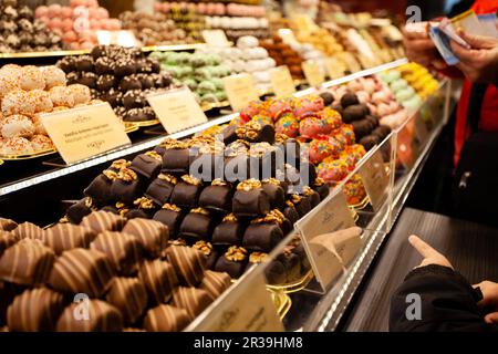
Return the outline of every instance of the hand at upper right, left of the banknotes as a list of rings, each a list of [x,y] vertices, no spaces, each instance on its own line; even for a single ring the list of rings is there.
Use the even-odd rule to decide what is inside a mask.
[[[428,23],[407,24],[403,29],[403,44],[406,58],[426,67],[443,70],[447,65],[439,55],[433,40],[427,33]]]

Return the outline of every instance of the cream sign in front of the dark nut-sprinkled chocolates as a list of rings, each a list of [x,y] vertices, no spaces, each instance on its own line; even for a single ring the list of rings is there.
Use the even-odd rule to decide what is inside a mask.
[[[147,101],[169,134],[207,122],[206,114],[188,87],[152,94]]]

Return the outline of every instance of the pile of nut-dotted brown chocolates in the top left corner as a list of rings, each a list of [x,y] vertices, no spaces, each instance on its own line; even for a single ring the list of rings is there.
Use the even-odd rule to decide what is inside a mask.
[[[17,0],[0,1],[0,53],[62,50],[62,39]]]

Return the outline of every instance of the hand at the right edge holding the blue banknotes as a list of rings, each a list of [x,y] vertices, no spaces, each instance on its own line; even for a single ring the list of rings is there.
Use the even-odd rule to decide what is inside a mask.
[[[498,40],[463,31],[458,31],[458,35],[471,46],[466,49],[450,41],[455,55],[460,60],[458,69],[471,82],[498,83]]]

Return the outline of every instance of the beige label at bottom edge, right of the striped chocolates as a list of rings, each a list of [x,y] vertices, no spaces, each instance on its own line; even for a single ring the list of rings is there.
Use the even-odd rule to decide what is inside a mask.
[[[264,275],[255,270],[229,290],[207,315],[199,317],[186,331],[190,332],[282,332]]]

